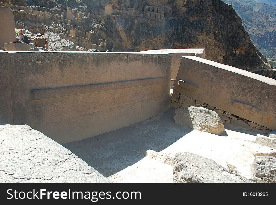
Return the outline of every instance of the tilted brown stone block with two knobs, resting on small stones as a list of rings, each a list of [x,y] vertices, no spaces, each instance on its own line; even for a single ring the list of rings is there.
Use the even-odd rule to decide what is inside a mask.
[[[198,106],[209,105],[213,110],[222,110],[224,118],[228,117],[225,120],[233,121],[233,124],[239,118],[249,126],[276,130],[274,79],[188,56],[182,57],[173,92],[174,107],[195,106],[196,103]],[[183,97],[178,98],[179,94]]]

